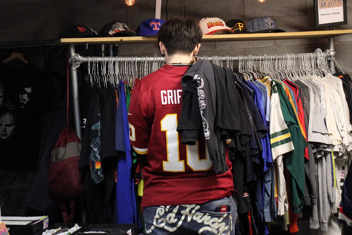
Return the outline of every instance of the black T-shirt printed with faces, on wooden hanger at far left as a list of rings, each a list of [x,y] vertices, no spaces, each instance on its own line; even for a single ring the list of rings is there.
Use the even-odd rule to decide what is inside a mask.
[[[35,171],[43,113],[52,109],[49,79],[34,65],[0,62],[0,168]]]

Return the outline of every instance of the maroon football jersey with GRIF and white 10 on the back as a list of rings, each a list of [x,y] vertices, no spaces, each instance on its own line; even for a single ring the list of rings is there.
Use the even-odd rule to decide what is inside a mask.
[[[216,175],[205,140],[181,143],[181,78],[187,66],[164,65],[133,88],[128,113],[134,151],[147,154],[142,206],[204,203],[233,193],[232,164]]]

